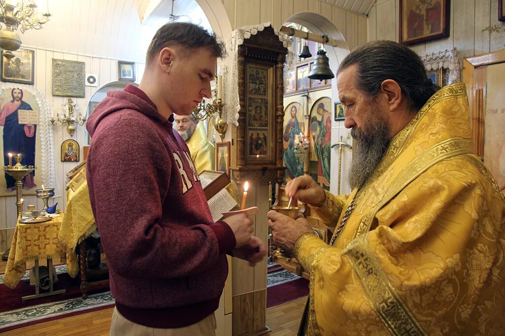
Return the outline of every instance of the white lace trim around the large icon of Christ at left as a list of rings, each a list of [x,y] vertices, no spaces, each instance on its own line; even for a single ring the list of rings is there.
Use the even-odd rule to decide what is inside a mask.
[[[56,169],[53,125],[51,122],[49,122],[49,119],[51,119],[51,107],[49,106],[47,99],[45,99],[45,96],[31,85],[16,83],[2,83],[2,85],[0,85],[0,92],[8,91],[9,95],[12,89],[23,90],[23,95],[25,98],[27,93],[30,93],[38,105],[32,106],[34,110],[37,108],[40,110],[36,134],[36,136],[40,137],[40,153],[36,153],[35,155],[40,155],[41,163],[40,167],[35,167],[35,174],[40,174],[42,178],[42,184],[47,187],[54,187],[55,194],[59,195],[55,174]]]

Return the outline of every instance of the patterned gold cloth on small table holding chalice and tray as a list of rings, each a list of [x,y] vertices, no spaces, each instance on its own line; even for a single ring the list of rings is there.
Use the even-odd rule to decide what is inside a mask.
[[[58,241],[61,223],[61,217],[54,217],[51,221],[44,223],[18,223],[16,225],[5,268],[4,284],[7,287],[15,288],[23,278],[26,260],[65,256],[65,250]]]

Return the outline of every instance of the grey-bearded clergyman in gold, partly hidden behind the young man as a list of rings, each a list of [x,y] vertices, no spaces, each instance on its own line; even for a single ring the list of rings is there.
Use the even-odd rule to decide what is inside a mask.
[[[188,145],[196,173],[215,170],[216,148],[207,138],[204,123],[195,120],[193,115],[174,114],[174,126]]]

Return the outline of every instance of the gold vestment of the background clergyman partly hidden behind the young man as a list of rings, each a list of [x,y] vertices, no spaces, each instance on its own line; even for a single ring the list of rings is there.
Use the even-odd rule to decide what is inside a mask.
[[[186,141],[186,145],[188,145],[198,175],[204,170],[215,170],[216,148],[207,139],[203,122],[200,121],[196,124],[193,134]]]

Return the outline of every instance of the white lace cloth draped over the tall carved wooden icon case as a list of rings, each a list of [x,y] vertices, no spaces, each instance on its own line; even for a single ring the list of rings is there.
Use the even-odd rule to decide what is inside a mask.
[[[270,22],[265,22],[259,25],[241,27],[232,31],[230,36],[226,39],[226,51],[230,59],[227,61],[228,65],[222,66],[221,75],[223,76],[223,114],[224,120],[226,120],[228,124],[233,123],[238,125],[238,112],[240,111],[237,65],[238,46],[244,43],[244,39],[258,34],[258,32],[263,31],[265,27],[269,26],[271,26]],[[292,59],[293,57],[291,54],[293,53],[293,48],[291,38],[277,29],[273,29],[275,35],[279,37],[279,41],[288,49],[286,59]]]

